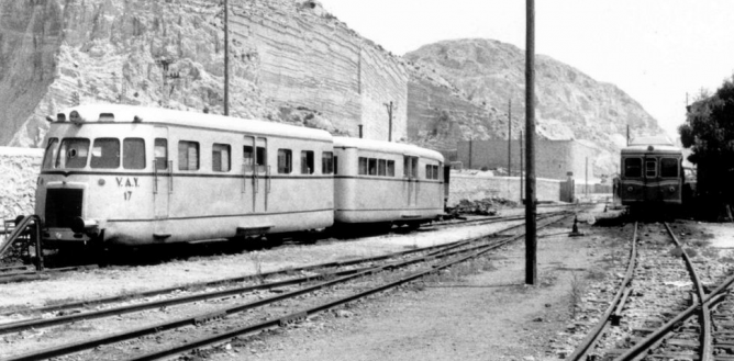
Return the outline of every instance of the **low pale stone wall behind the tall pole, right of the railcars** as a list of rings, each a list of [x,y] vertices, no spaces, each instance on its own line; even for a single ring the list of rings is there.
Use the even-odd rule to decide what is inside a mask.
[[[535,183],[538,201],[558,201],[561,181],[537,178]],[[519,177],[493,177],[491,174],[458,172],[452,170],[448,206],[455,206],[460,200],[482,200],[499,196],[520,202]],[[523,189],[524,192],[524,189]]]

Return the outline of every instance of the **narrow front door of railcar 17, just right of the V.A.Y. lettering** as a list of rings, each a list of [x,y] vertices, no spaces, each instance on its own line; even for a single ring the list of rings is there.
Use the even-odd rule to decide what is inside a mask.
[[[168,153],[168,127],[156,126],[153,129],[153,214],[156,219],[156,233],[166,233],[164,222],[168,219],[168,205],[174,192],[174,165]]]

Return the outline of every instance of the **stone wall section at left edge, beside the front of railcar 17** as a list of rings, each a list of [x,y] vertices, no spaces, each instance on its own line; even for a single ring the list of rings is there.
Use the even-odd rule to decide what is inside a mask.
[[[34,214],[43,149],[0,147],[0,217]]]

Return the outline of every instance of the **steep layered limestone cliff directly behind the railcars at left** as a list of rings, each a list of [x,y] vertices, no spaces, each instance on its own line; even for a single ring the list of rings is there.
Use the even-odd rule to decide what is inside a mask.
[[[231,1],[230,114],[404,137],[399,57],[309,0]],[[223,112],[219,0],[0,0],[0,145],[38,146],[45,116],[120,102]]]

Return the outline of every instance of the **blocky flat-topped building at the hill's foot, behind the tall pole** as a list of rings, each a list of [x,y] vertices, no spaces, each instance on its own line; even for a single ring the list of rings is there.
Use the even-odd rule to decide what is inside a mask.
[[[520,174],[520,142],[512,140],[511,176]],[[525,145],[523,144],[523,148]],[[508,140],[461,140],[457,157],[464,168],[508,169]],[[525,162],[523,149],[523,163]],[[589,181],[593,180],[593,161],[597,149],[576,140],[537,139],[535,143],[535,176],[538,178],[567,179],[574,172],[576,180],[586,178],[589,161]],[[523,168],[525,168],[523,166]]]

